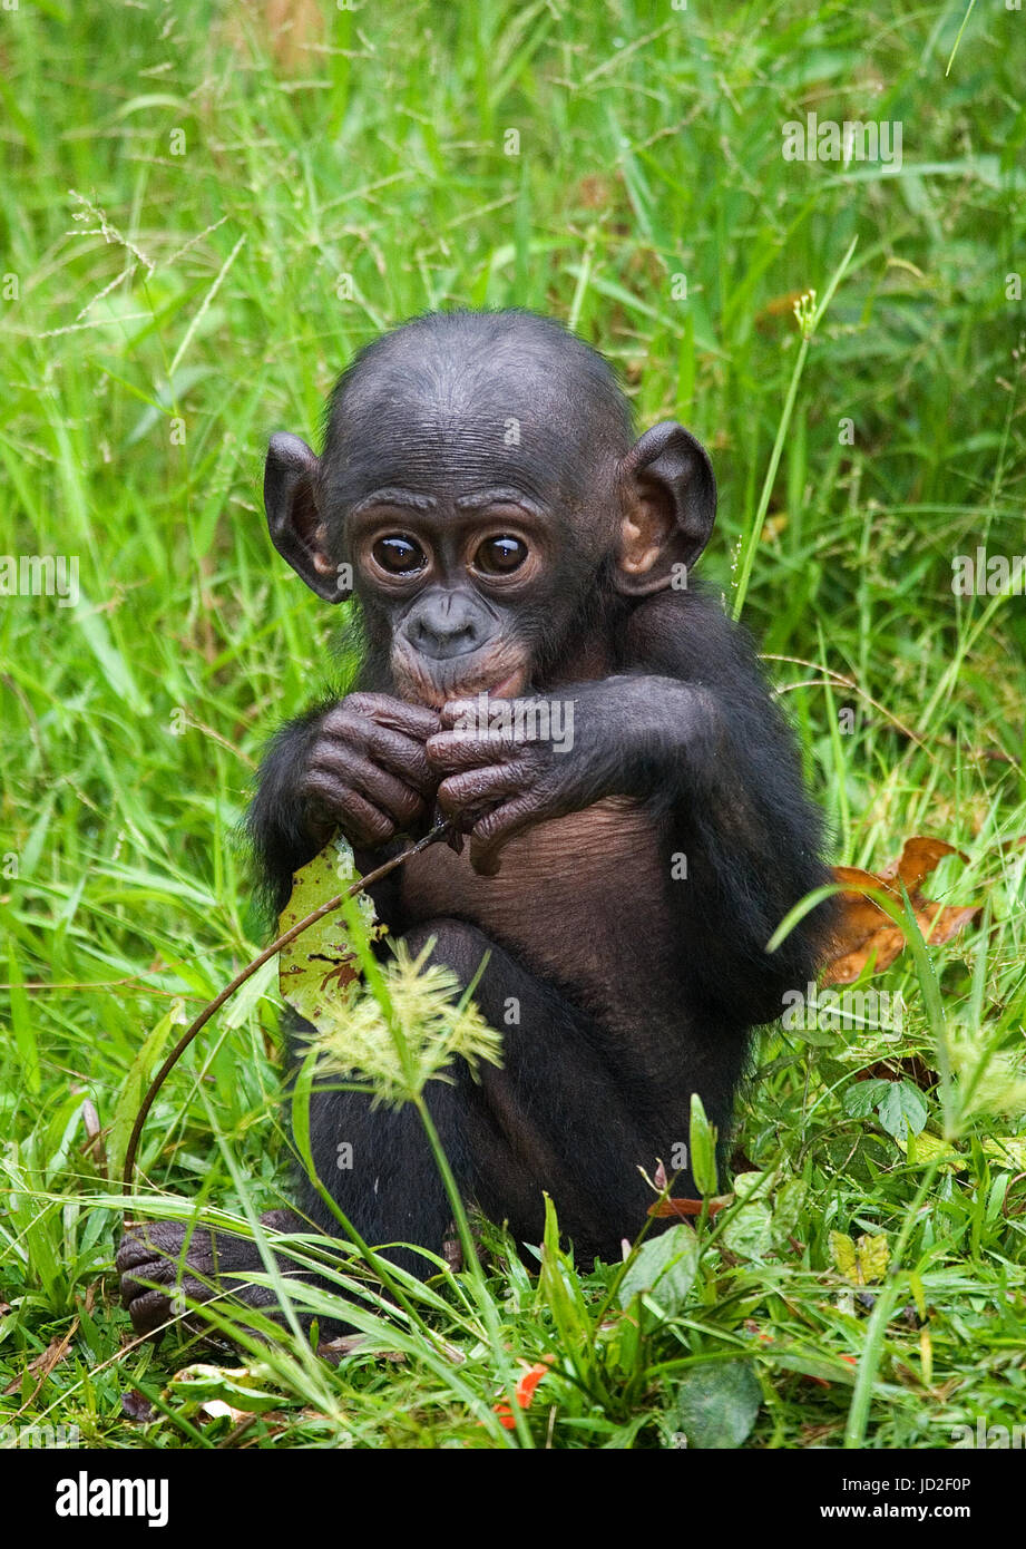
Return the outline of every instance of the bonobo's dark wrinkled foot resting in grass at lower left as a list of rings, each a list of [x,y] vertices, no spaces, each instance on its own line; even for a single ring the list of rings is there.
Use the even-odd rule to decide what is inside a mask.
[[[303,1231],[303,1222],[291,1210],[271,1210],[260,1218],[272,1231]],[[189,1248],[183,1261],[183,1244]],[[189,1228],[178,1221],[150,1221],[130,1227],[116,1258],[121,1275],[121,1301],[132,1315],[136,1334],[155,1334],[175,1317],[172,1298],[210,1301],[229,1292],[248,1307],[275,1307],[277,1298],[268,1286],[246,1286],[235,1279],[251,1270],[262,1272],[265,1262],[255,1242],[231,1231],[214,1233],[206,1227]],[[231,1279],[220,1283],[221,1275]],[[149,1284],[144,1284],[149,1283]],[[153,1290],[152,1286],[167,1290]],[[181,1304],[184,1310],[184,1301]]]

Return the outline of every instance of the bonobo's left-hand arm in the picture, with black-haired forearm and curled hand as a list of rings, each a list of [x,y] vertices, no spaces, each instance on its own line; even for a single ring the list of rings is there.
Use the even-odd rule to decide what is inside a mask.
[[[282,726],[248,818],[275,911],[336,827],[357,852],[424,832],[438,785],[424,742],[438,726],[435,711],[387,694],[348,694]]]

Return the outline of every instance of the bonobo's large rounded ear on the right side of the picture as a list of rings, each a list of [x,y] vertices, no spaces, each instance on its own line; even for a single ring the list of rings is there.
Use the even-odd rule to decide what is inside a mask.
[[[621,463],[616,584],[628,596],[669,587],[675,565],[695,564],[716,517],[709,454],[673,420],[653,424]]]

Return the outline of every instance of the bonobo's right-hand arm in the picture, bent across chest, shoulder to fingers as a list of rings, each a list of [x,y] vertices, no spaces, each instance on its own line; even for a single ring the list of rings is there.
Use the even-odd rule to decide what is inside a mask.
[[[494,874],[501,847],[535,823],[608,796],[642,802],[658,826],[667,906],[698,1004],[772,1021],[783,991],[814,976],[831,915],[819,908],[766,954],[792,905],[829,880],[786,722],[744,632],[695,592],[641,604],[617,666],[599,683],[537,696],[548,728],[531,702],[509,702],[498,725],[495,702],[477,725],[477,702],[446,705],[444,730],[427,742],[444,776],[438,804],[483,810],[470,860]]]

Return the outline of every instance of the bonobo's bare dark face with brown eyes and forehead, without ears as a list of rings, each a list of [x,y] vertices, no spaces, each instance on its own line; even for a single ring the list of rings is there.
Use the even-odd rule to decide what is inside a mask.
[[[608,469],[602,489],[556,400],[498,364],[444,410],[416,392],[367,406],[378,445],[357,451],[344,424],[325,455],[325,545],[353,564],[368,627],[387,627],[402,699],[523,692],[594,586]]]

